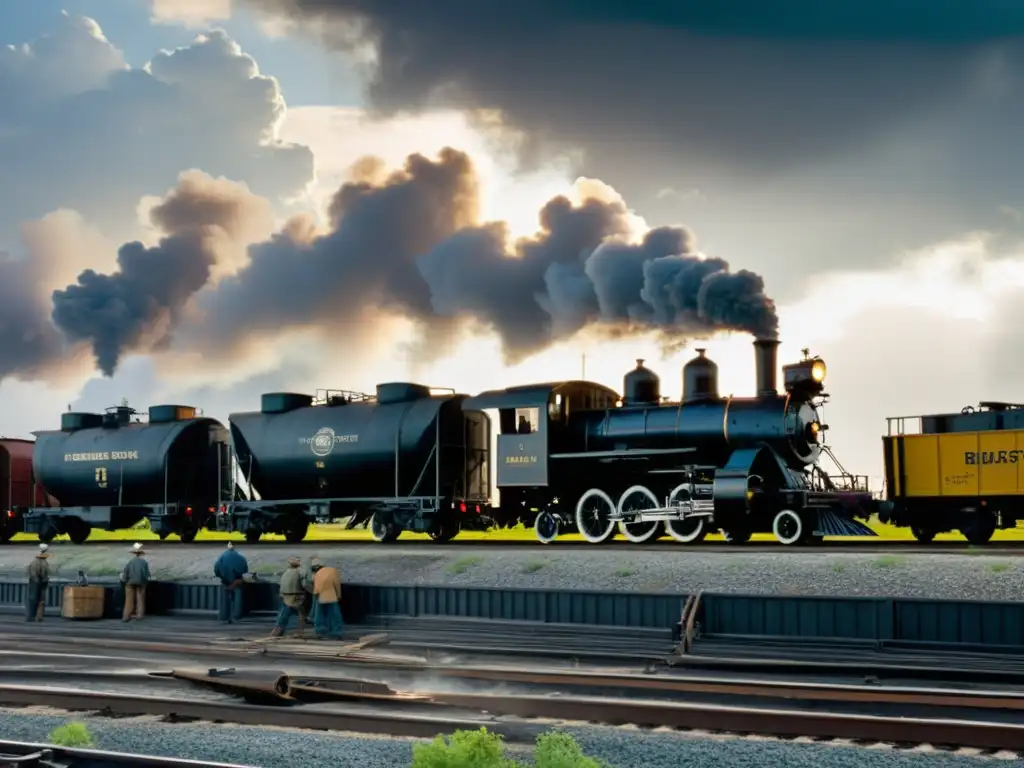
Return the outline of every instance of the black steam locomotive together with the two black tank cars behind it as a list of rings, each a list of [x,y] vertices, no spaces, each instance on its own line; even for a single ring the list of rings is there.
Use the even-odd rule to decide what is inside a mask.
[[[683,370],[680,402],[638,361],[624,396],[566,381],[476,396],[403,382],[376,395],[322,390],[262,396],[229,431],[184,406],[127,404],[63,414],[38,433],[36,477],[59,499],[25,516],[26,530],[81,542],[92,527],[148,518],[161,538],[201,527],[301,541],[311,521],[368,524],[381,542],[403,530],[436,541],[460,530],[532,525],[542,542],[579,530],[592,543],[616,526],[633,542],[668,534],[698,542],[721,528],[733,542],[770,530],[783,544],[823,535],[873,536],[861,478],[824,474],[819,419],[824,362],[783,368],[778,342],[755,342],[757,396],[721,397],[703,350]],[[490,504],[492,418],[497,484]]]

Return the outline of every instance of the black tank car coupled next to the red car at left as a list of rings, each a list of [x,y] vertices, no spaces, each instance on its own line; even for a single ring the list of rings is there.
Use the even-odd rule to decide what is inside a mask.
[[[162,539],[190,542],[230,498],[227,430],[187,406],[154,406],[148,420],[127,404],[102,415],[67,413],[60,429],[36,433],[33,470],[59,500],[26,514],[43,541],[84,542],[148,518]]]

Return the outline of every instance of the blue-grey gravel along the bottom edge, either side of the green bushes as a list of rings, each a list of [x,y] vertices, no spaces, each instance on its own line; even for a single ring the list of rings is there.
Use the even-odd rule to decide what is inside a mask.
[[[102,720],[57,713],[27,714],[0,710],[0,738],[45,741],[50,731],[74,719],[85,722],[96,749],[234,763],[260,768],[409,768],[413,740],[355,734],[303,732],[284,728],[250,728],[210,724],[168,725],[153,720]],[[773,739],[640,732],[628,728],[568,728],[586,754],[613,768],[679,768],[765,765],[810,768],[980,768],[1024,766],[1012,755],[983,758],[932,750],[896,751],[845,744],[783,742]],[[510,756],[527,758],[525,748]]]

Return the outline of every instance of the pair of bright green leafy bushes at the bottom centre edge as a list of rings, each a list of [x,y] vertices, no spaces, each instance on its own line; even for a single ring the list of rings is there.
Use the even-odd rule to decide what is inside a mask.
[[[544,733],[537,739],[534,759],[537,768],[606,768],[583,754],[568,733]],[[524,766],[505,757],[505,743],[486,728],[456,731],[437,736],[429,744],[413,748],[413,768],[519,768]]]

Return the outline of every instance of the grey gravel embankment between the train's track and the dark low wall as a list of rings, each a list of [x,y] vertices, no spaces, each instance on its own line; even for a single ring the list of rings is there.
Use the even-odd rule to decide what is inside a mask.
[[[249,567],[273,578],[286,558],[311,555],[338,565],[342,579],[374,584],[535,587],[638,592],[707,590],[748,594],[925,597],[1020,600],[1024,552],[1000,554],[880,554],[841,551],[631,552],[628,548],[496,550],[443,546],[386,549],[379,545],[290,548],[240,546]],[[52,548],[51,567],[73,579],[118,573],[129,557],[125,544]],[[155,547],[147,555],[155,579],[208,580],[219,549]],[[27,547],[0,546],[0,579],[22,579],[33,556]]]

